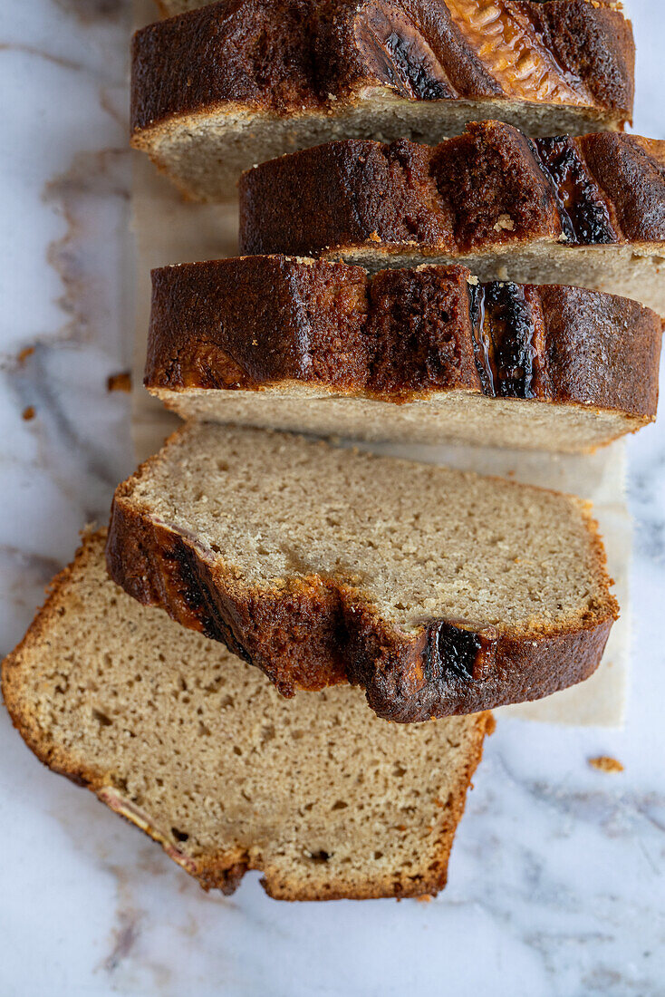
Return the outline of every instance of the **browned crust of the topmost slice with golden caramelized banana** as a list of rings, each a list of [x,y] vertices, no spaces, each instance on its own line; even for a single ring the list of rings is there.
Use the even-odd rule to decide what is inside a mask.
[[[635,52],[630,22],[613,6],[221,0],[137,33],[132,132],[225,104],[334,112],[376,88],[415,101],[567,105],[620,128],[632,117]]]

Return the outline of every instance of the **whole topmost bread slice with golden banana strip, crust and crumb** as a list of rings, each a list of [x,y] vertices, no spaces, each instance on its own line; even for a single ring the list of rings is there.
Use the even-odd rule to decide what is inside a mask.
[[[133,145],[224,200],[242,169],[332,139],[620,129],[633,81],[604,0],[224,0],[136,35]]]

